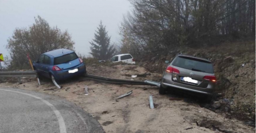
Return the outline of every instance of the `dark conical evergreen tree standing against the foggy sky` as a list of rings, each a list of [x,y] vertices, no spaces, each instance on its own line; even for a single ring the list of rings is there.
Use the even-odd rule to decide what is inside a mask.
[[[110,45],[110,36],[107,34],[106,26],[103,26],[100,21],[97,29],[98,31],[94,34],[95,38],[90,42],[92,45],[90,54],[99,60],[110,59],[115,53],[115,48],[114,45]]]

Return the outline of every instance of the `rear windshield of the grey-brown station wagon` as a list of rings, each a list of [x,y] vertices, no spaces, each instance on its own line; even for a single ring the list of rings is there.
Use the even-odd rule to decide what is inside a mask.
[[[214,73],[211,62],[197,58],[179,56],[173,61],[172,65],[192,71]]]

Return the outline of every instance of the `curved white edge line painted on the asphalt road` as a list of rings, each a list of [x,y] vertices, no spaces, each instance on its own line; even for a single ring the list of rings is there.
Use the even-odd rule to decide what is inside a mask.
[[[57,117],[57,119],[58,119],[58,122],[59,122],[60,133],[67,133],[67,130],[66,130],[66,126],[65,126],[65,122],[64,122],[63,117],[61,116],[60,112],[54,107],[54,105],[52,105],[51,103],[49,103],[49,101],[46,101],[46,100],[42,99],[41,97],[34,96],[34,95],[31,95],[31,94],[28,94],[28,93],[17,92],[17,91],[10,91],[10,90],[7,90],[7,89],[0,89],[0,90],[1,90],[1,91],[9,91],[9,92],[21,93],[21,94],[23,94],[23,95],[28,95],[28,96],[34,97],[35,99],[41,100],[41,101],[44,102],[46,105],[48,105],[49,107],[51,107],[52,110],[53,110],[53,112],[55,113],[55,115],[56,115],[56,117]]]

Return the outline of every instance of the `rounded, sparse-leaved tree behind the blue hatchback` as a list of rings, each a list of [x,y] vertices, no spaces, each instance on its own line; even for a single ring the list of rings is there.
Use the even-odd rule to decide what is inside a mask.
[[[6,48],[10,52],[11,61],[9,67],[27,68],[28,58],[30,55],[32,60],[36,60],[40,54],[50,50],[66,48],[73,50],[75,44],[71,40],[71,36],[66,31],[61,32],[59,28],[51,28],[45,19],[38,16],[35,23],[29,28],[17,28],[14,30],[13,36],[9,38]]]

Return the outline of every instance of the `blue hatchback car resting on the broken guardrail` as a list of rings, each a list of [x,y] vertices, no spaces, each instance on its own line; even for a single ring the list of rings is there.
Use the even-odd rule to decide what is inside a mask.
[[[40,55],[33,63],[38,75],[55,81],[86,75],[86,65],[76,53],[68,49],[56,49]]]

